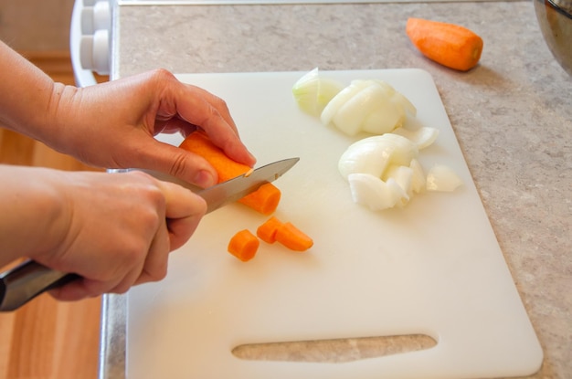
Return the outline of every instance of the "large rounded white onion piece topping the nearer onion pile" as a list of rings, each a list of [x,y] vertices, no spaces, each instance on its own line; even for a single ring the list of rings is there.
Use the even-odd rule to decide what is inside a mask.
[[[387,133],[351,144],[340,157],[338,170],[347,180],[349,174],[371,174],[381,178],[389,164],[408,166],[418,157],[415,143]]]

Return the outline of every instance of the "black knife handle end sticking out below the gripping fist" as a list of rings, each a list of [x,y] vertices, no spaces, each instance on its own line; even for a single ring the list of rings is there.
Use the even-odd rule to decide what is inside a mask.
[[[0,311],[15,311],[37,295],[78,279],[79,275],[56,271],[34,260],[0,274]]]

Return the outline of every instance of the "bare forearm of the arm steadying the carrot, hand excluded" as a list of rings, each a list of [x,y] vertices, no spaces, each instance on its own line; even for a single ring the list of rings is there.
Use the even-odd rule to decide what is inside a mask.
[[[58,135],[61,102],[76,89],[55,83],[0,41],[0,124],[42,142]],[[63,108],[63,110],[62,110]]]

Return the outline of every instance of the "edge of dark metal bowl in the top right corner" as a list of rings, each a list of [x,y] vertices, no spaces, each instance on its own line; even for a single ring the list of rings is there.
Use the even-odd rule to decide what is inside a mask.
[[[534,0],[546,45],[572,76],[572,0]]]

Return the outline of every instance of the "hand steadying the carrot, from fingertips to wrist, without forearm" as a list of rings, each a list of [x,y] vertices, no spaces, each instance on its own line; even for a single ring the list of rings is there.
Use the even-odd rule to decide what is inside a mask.
[[[85,163],[154,169],[209,186],[217,182],[217,174],[202,157],[153,138],[159,132],[187,135],[196,129],[207,132],[230,158],[255,163],[238,138],[226,103],[163,69],[84,89],[62,89],[59,103],[58,128],[50,144]]]

